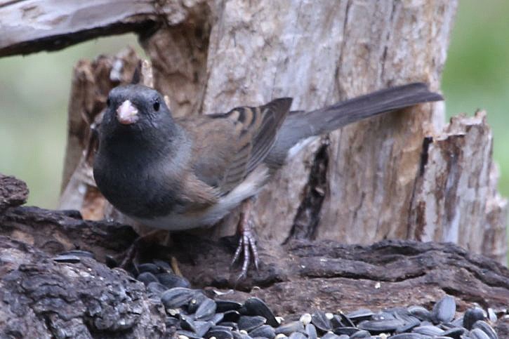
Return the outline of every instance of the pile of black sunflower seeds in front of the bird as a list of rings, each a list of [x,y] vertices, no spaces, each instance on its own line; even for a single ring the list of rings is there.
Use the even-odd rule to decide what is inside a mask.
[[[357,310],[302,314],[284,321],[259,298],[244,303],[213,300],[191,289],[189,281],[173,274],[166,262],[139,265],[135,276],[147,286],[149,297],[166,310],[168,335],[179,339],[496,339],[489,325],[497,319],[491,309],[473,307],[456,315],[456,302],[446,295],[432,310],[421,306],[395,307],[381,312]]]

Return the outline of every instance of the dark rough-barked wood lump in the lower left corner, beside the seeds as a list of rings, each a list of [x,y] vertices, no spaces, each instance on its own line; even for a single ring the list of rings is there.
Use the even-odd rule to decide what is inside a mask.
[[[77,230],[74,230],[77,231]],[[164,307],[123,270],[91,258],[55,262],[0,237],[3,338],[161,338]]]

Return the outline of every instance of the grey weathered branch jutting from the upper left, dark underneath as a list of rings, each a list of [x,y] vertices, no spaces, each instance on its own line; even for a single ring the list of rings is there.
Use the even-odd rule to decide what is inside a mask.
[[[145,32],[157,20],[154,1],[0,2],[0,56],[55,51],[97,36]]]

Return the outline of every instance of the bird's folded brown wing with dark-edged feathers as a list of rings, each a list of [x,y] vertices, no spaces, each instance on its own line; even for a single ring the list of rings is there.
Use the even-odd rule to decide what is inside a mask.
[[[265,159],[290,106],[291,98],[280,98],[178,121],[192,136],[197,178],[220,194],[230,192]]]

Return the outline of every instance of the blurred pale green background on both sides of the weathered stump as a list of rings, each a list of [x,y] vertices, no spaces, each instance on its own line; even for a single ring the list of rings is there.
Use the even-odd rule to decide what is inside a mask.
[[[509,195],[509,1],[461,0],[442,90],[449,116],[488,111],[500,190]],[[25,180],[29,204],[58,202],[72,67],[80,58],[114,54],[133,34],[89,41],[64,51],[0,59],[0,173]],[[140,48],[137,48],[140,51]]]

